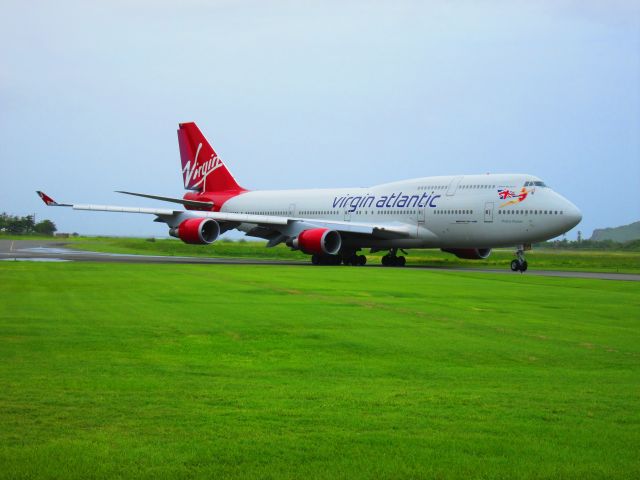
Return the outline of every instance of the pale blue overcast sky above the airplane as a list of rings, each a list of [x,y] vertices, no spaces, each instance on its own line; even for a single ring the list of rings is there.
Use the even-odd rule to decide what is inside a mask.
[[[249,189],[531,173],[640,220],[640,2],[2,2],[0,211],[156,235],[153,217],[47,208],[181,196],[178,122]]]

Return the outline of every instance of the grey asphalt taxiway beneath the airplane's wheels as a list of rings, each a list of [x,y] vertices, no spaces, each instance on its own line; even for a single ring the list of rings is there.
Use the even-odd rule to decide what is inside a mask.
[[[211,258],[211,257],[168,257],[161,255],[126,255],[116,253],[84,252],[66,248],[60,241],[47,240],[0,240],[0,260],[4,261],[35,261],[35,262],[119,262],[119,263],[175,263],[175,264],[203,264],[203,265],[292,265],[311,266],[310,262],[291,260],[260,260],[253,258]],[[378,267],[378,265],[369,265]],[[420,267],[424,270],[453,270],[482,273],[499,273],[504,275],[520,275],[510,270],[478,269],[463,267]],[[563,277],[563,278],[591,278],[600,280],[640,281],[640,275],[627,273],[597,273],[597,272],[568,272],[556,270],[535,270],[533,268],[524,275]]]

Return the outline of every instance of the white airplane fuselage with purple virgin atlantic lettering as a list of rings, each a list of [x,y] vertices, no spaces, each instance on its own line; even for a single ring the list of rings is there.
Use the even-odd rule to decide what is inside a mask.
[[[402,227],[402,239],[355,236],[357,247],[490,248],[554,238],[578,208],[532,175],[425,177],[370,188],[251,191],[222,212]],[[240,225],[250,231],[251,226]]]

